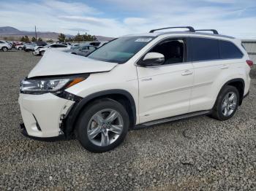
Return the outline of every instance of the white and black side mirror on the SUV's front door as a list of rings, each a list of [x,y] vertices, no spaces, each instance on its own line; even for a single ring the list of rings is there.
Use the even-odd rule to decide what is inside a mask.
[[[165,56],[158,52],[148,52],[142,61],[138,64],[140,66],[159,66],[165,63]]]

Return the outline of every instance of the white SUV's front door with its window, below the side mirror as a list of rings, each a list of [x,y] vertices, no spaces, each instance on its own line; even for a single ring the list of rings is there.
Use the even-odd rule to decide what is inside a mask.
[[[165,55],[161,66],[137,66],[140,123],[189,112],[194,71],[185,39],[167,39],[149,52]]]

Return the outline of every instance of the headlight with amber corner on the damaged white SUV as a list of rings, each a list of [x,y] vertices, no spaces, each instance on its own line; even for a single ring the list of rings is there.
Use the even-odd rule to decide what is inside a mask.
[[[59,93],[61,90],[82,82],[87,77],[88,76],[59,79],[23,79],[20,82],[20,93]]]

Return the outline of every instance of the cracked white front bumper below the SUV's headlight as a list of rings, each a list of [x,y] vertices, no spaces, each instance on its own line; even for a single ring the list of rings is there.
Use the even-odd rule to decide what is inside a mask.
[[[52,93],[31,95],[20,93],[20,112],[28,136],[48,138],[62,133],[61,115],[66,114],[74,101],[59,98]]]

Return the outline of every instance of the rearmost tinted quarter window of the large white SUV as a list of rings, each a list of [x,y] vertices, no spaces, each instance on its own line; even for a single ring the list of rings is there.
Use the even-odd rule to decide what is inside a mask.
[[[220,58],[233,59],[242,58],[243,53],[232,42],[219,41]]]

